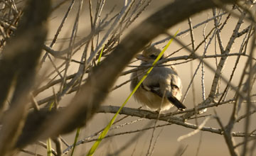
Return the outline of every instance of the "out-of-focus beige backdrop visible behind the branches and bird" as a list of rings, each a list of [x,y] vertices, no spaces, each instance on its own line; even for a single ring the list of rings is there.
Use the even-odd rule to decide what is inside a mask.
[[[58,4],[59,1],[53,1],[53,4]],[[60,26],[61,21],[63,20],[63,17],[65,15],[65,12],[67,11],[68,7],[70,6],[71,1],[67,1],[65,4],[61,5],[60,8],[56,9],[51,13],[50,18],[48,19],[49,22],[49,33],[48,33],[48,40],[46,41],[46,45],[49,45],[51,40],[53,40],[53,37],[58,30],[58,27]],[[166,4],[169,4],[170,1],[168,0],[152,0],[149,6],[146,7],[146,9],[142,12],[141,15],[132,23],[132,25],[122,33],[121,40],[122,38],[129,33],[132,28],[135,28],[139,23],[144,21],[147,17],[149,17],[152,13],[155,11],[159,11],[163,6],[166,6]],[[92,1],[92,12],[95,11],[95,6],[96,6],[96,1]],[[115,6],[114,11],[110,13],[110,11],[113,9],[113,6]],[[106,15],[107,13],[110,13],[110,16],[113,16],[114,14],[118,13],[120,9],[124,6],[124,1],[120,0],[111,0],[111,1],[105,1],[105,6],[102,9],[102,16],[101,18],[104,18],[103,15]],[[70,11],[70,14],[67,18],[67,21],[65,22],[65,25],[63,26],[63,29],[61,30],[61,33],[58,37],[58,40],[54,46],[54,50],[64,50],[65,48],[68,48],[69,44],[69,38],[72,33],[72,28],[74,25],[76,13],[78,11],[79,3],[78,1],[75,1],[75,4],[73,6],[73,9]],[[230,6],[228,6],[230,7]],[[219,9],[217,9],[217,12],[219,13]],[[220,11],[220,13],[223,13],[223,11]],[[225,14],[222,16],[222,19],[220,19],[220,23],[223,23],[225,21],[225,18],[228,16],[228,14]],[[213,17],[213,11],[212,9],[203,11],[201,13],[197,13],[195,16],[191,17],[191,22],[193,26],[196,26],[198,23],[201,23],[203,21],[206,21],[208,18]],[[171,19],[169,19],[171,20]],[[228,40],[230,36],[233,33],[233,30],[238,22],[238,17],[235,16],[230,16],[228,19],[228,23],[225,25],[223,30],[221,31],[221,38],[223,42],[223,47],[228,43]],[[243,30],[249,26],[250,23],[245,21],[240,30]],[[203,41],[203,34],[207,35],[210,33],[210,31],[214,28],[214,21],[209,21],[208,23],[202,24],[201,26],[198,26],[197,28],[193,29],[193,35],[195,38],[195,45],[199,45]],[[183,21],[181,23],[178,23],[176,26],[173,28],[170,28],[168,30],[169,33],[174,34],[177,30],[179,32],[183,32],[184,30],[188,30],[189,25],[188,25],[188,20]],[[80,40],[80,38],[85,37],[90,33],[90,12],[89,12],[89,4],[88,1],[84,1],[82,5],[82,12],[80,14],[80,21],[78,25],[78,36],[76,40]],[[106,33],[107,30],[103,30],[99,38],[102,38],[104,36],[104,33]],[[211,36],[211,35],[210,35]],[[152,43],[156,43],[159,40],[163,40],[164,38],[167,38],[168,35],[159,35],[157,38],[152,40]],[[191,35],[189,31],[187,33],[183,33],[182,35],[179,35],[178,40],[181,40],[185,45],[188,45],[189,48],[191,48]],[[242,42],[243,38],[238,38],[235,40],[235,44],[232,47],[232,52],[239,52],[240,50],[240,45]],[[205,48],[205,45],[211,42],[209,45],[209,48],[206,51],[206,55],[215,55],[215,52],[220,54],[220,49],[218,48],[218,41],[215,36],[213,36],[213,40],[210,40],[209,38],[206,40],[206,43],[203,43],[201,47],[197,50],[196,54],[197,55],[203,55],[203,51]],[[159,45],[157,45],[159,48],[163,48],[164,45],[166,45],[166,42],[163,42]],[[216,48],[217,47],[217,48]],[[250,47],[250,45],[248,45]],[[175,41],[171,43],[170,47],[166,52],[168,54],[171,54],[172,52],[176,52],[174,55],[171,57],[178,57],[178,56],[183,56],[183,55],[190,55],[190,52],[188,52],[185,49],[181,49],[181,45],[178,45]],[[181,49],[181,50],[179,50]],[[43,52],[44,53],[44,52]],[[82,54],[82,48],[80,52],[77,52],[73,56],[73,60],[80,60]],[[254,55],[255,57],[255,55]],[[104,59],[104,57],[103,57]],[[232,73],[233,67],[235,65],[235,60],[237,59],[237,56],[230,56],[228,57],[228,61],[225,63],[225,69],[223,69],[222,72],[222,77],[225,79],[230,78],[230,74]],[[135,59],[134,59],[135,60]],[[60,65],[62,62],[60,59],[54,59],[55,65]],[[218,61],[220,61],[220,57],[217,59],[212,57],[212,58],[207,58],[204,59],[205,62],[207,62],[211,67],[216,69],[216,61],[218,64]],[[245,62],[247,61],[247,57],[242,56],[240,58],[240,62],[238,63],[238,67],[235,71],[235,75],[233,77],[232,83],[236,86],[238,86],[240,82],[240,77],[241,74],[244,70],[245,67]],[[139,65],[139,61],[133,62],[131,65]],[[186,60],[177,60],[173,62],[169,62],[169,64],[178,64],[175,65],[176,69],[178,69],[178,74],[181,77],[182,83],[183,83],[183,95],[186,92],[186,89],[188,89],[188,85],[191,82],[191,77],[195,73],[196,69],[198,68],[200,61],[199,60],[193,60],[190,62],[186,62]],[[70,68],[68,70],[68,75],[74,74],[77,72],[79,67],[79,63],[77,62],[71,62],[70,63]],[[46,59],[46,63],[43,65],[41,68],[41,74],[46,74],[50,71],[52,71],[53,67],[50,64],[50,61]],[[124,69],[124,71],[127,71],[129,69],[132,69],[131,67],[127,67]],[[210,71],[208,67],[204,67],[204,85],[205,85],[205,96],[207,97],[211,85],[213,83],[213,77],[214,77],[214,72]],[[86,77],[86,76],[85,76]],[[114,86],[117,86],[119,84],[122,84],[123,82],[126,82],[129,80],[130,74],[124,75],[119,77],[117,82],[114,84]],[[49,79],[52,79],[53,77],[49,77]],[[194,102],[196,105],[200,104],[203,101],[203,91],[202,91],[202,67],[200,66],[198,69],[198,72],[196,73],[196,76],[193,80],[193,85],[194,85],[194,97],[193,97],[193,91],[190,89],[188,91],[188,94],[186,96],[186,99],[183,101],[183,104],[187,106],[187,108],[193,108],[193,98]],[[219,92],[221,93],[225,87],[226,84],[223,81],[220,81],[220,88]],[[55,86],[55,89],[58,90],[58,85]],[[255,87],[252,89],[253,93],[255,94]],[[46,96],[50,96],[52,94],[52,89],[48,89],[47,91],[43,91],[41,94],[38,94],[36,96],[37,100],[41,100],[45,98]],[[127,99],[127,96],[130,94],[130,89],[129,89],[129,83],[124,84],[122,87],[119,87],[118,89],[115,89],[110,93],[108,98],[105,100],[103,105],[105,106],[121,106],[122,103],[124,102],[125,99]],[[232,91],[230,89],[226,99],[232,99],[235,94],[235,91]],[[60,106],[66,106],[67,104],[70,104],[71,99],[73,98],[75,94],[67,94],[63,96],[63,99],[60,101]],[[255,96],[254,96],[255,97]],[[255,100],[255,98],[253,99]],[[255,103],[253,103],[255,105]],[[242,108],[240,111],[240,116],[245,113],[245,104],[242,105]],[[141,106],[140,104],[137,103],[137,101],[134,101],[134,99],[130,99],[126,107],[131,107],[131,108],[139,108]],[[146,108],[144,108],[146,109]],[[208,108],[206,113],[203,113],[202,116],[214,116],[214,110],[217,112],[218,116],[220,116],[221,122],[223,125],[226,125],[230,119],[231,113],[233,111],[233,104],[224,104],[221,106],[213,107],[213,108]],[[176,111],[176,108],[171,108],[169,112],[174,112]],[[168,112],[166,112],[168,113]],[[81,129],[81,133],[79,136],[78,140],[82,140],[83,138],[87,138],[93,133],[101,130],[102,128],[105,128],[107,126],[107,123],[110,122],[112,116],[114,114],[110,113],[97,113],[90,123],[87,123],[87,126],[83,127]],[[119,118],[124,117],[123,115],[119,115]],[[117,120],[118,120],[117,119]],[[253,122],[255,119],[255,114],[251,116],[251,125],[250,125],[250,130],[255,130],[255,122]],[[205,118],[198,118],[198,123],[202,123]],[[133,123],[134,122],[134,123]],[[120,126],[120,128],[115,128],[113,130],[110,130],[109,135],[114,135],[117,133],[122,133],[122,132],[127,132],[127,134],[123,135],[117,135],[113,136],[110,138],[106,138],[105,140],[102,141],[100,144],[99,149],[95,153],[95,155],[108,155],[111,153],[114,153],[115,151],[119,150],[121,147],[126,145],[131,139],[137,138],[137,140],[134,140],[134,142],[127,146],[124,151],[122,151],[119,155],[146,155],[146,152],[149,148],[149,143],[151,140],[152,132],[153,129],[150,130],[144,130],[138,133],[132,133],[134,130],[141,130],[142,128],[145,128],[146,126],[149,126],[149,120],[147,119],[141,119],[137,117],[132,117],[129,116],[128,118],[125,118],[123,121],[120,123],[117,123],[117,125],[114,125],[113,127],[116,127],[118,125],[122,125],[125,123],[131,123],[127,124],[124,126]],[[195,119],[191,119],[188,121],[188,123],[193,123],[195,124],[196,121]],[[165,124],[163,121],[157,121],[156,125],[162,125]],[[154,123],[151,123],[151,126],[154,126]],[[210,118],[209,121],[207,121],[206,127],[212,127],[212,128],[220,128],[218,122],[215,120],[215,118]],[[244,131],[244,126],[245,122],[240,121],[240,123],[236,123],[233,131],[235,132],[243,132]],[[190,128],[185,128],[183,126],[178,126],[175,124],[169,125],[169,126],[163,126],[160,128],[156,128],[154,132],[154,138],[153,138],[153,143],[154,143],[154,152],[152,155],[179,155],[177,154],[178,152],[183,151],[182,155],[230,155],[228,152],[228,146],[225,143],[225,139],[223,135],[218,135],[215,133],[210,133],[210,132],[205,132],[201,131],[197,133],[196,135],[192,135],[189,138],[186,138],[184,140],[178,141],[177,139],[182,136],[186,135],[188,133],[191,133],[193,129]],[[64,135],[63,138],[68,142],[69,145],[73,144],[74,138],[75,138],[75,132],[72,134]],[[241,143],[243,141],[243,138],[238,138],[235,137],[235,143]],[[81,145],[78,145],[76,150],[75,150],[75,155],[85,155],[87,151],[90,149],[94,142],[90,143],[83,143]],[[41,155],[46,155],[46,149],[39,146],[39,145],[30,145],[28,150],[31,151],[36,151]],[[63,150],[65,150],[65,145],[63,146]],[[238,150],[241,150],[238,147]],[[27,155],[24,153],[19,153],[18,155]],[[70,155],[70,152],[68,153]]]

